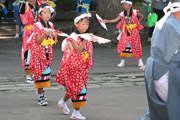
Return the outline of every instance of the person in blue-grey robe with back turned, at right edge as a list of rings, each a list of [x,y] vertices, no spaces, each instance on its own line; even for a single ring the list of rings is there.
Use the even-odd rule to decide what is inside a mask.
[[[146,63],[149,118],[144,120],[180,120],[180,0],[172,0],[164,10]]]

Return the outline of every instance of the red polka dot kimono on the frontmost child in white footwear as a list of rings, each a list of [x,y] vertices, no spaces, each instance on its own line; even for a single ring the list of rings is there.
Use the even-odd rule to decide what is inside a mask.
[[[79,46],[82,44],[79,36],[76,35],[76,38],[72,39],[77,40]],[[92,42],[88,41],[86,44],[86,52],[78,54],[71,48],[70,40],[71,38],[67,39],[68,45],[66,46],[61,62],[62,67],[56,76],[56,81],[66,87],[67,93],[71,99],[75,99],[84,85],[86,86],[87,84],[88,68],[92,66],[93,46]],[[89,56],[86,60],[83,60],[85,54]]]

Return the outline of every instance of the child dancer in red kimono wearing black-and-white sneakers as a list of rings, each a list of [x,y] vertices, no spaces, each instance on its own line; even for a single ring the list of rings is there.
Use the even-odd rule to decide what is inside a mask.
[[[39,6],[38,14],[41,18],[32,27],[32,39],[28,43],[31,50],[31,58],[29,68],[34,74],[35,88],[38,89],[38,104],[45,106],[48,104],[44,94],[44,87],[50,87],[51,60],[53,58],[53,35],[51,32],[45,31],[43,28],[54,29],[49,19],[54,9],[47,4]]]

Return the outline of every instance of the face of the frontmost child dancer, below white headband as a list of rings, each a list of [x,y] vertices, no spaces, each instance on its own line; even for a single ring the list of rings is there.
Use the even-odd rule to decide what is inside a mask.
[[[89,28],[89,19],[84,18],[83,20],[79,21],[78,23],[75,23],[75,26],[77,27],[77,29],[80,33],[85,33]]]

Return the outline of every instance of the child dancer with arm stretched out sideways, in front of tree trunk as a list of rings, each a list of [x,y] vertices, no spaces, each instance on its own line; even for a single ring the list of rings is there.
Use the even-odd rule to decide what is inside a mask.
[[[142,48],[139,30],[143,29],[140,21],[143,19],[143,15],[138,10],[132,9],[131,0],[122,0],[121,4],[124,11],[121,12],[117,18],[112,20],[104,20],[105,23],[115,23],[121,19],[119,24],[116,26],[118,30],[122,31],[122,34],[118,36],[117,52],[121,57],[121,62],[117,65],[118,67],[125,67],[124,57],[135,57],[139,60],[138,66],[143,66]],[[139,17],[139,20],[137,17]]]

